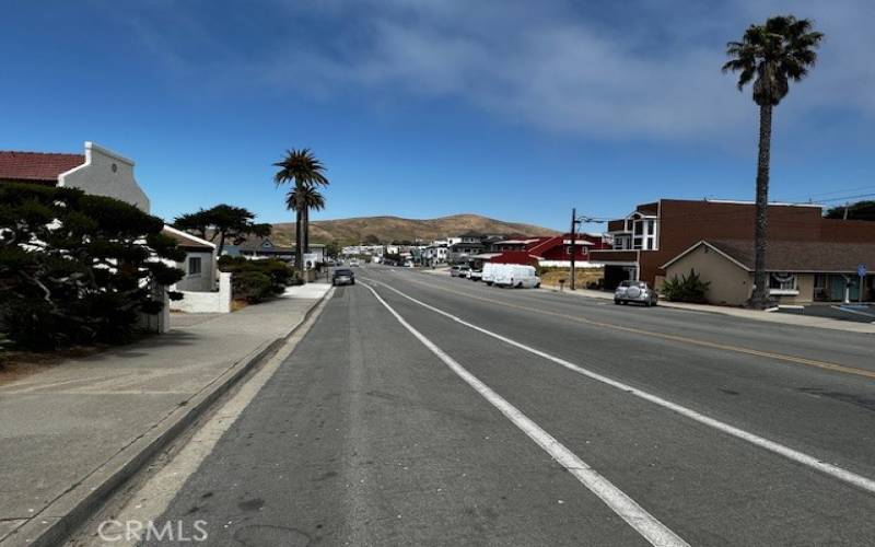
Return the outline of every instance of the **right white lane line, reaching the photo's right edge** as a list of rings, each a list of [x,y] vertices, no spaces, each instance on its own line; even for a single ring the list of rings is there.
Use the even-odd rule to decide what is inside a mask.
[[[827,463],[827,462],[822,462],[822,461],[820,461],[820,459],[818,459],[818,458],[816,458],[814,456],[805,454],[804,452],[800,452],[800,451],[797,451],[795,449],[791,449],[790,446],[783,445],[783,444],[781,444],[779,442],[771,441],[771,440],[766,439],[763,437],[759,437],[759,435],[757,435],[755,433],[750,433],[749,431],[745,431],[743,429],[736,428],[735,426],[730,426],[726,422],[723,422],[723,421],[720,421],[718,419],[711,418],[711,417],[705,416],[705,415],[703,415],[701,412],[697,412],[696,410],[692,410],[691,408],[687,408],[687,407],[678,405],[676,403],[672,403],[670,400],[666,400],[666,399],[664,399],[664,398],[662,398],[660,396],[653,395],[653,394],[644,392],[642,389],[638,389],[637,387],[632,387],[629,384],[623,384],[622,382],[618,382],[617,380],[612,380],[612,379],[610,379],[608,376],[604,376],[604,375],[602,375],[602,374],[599,374],[597,372],[593,372],[591,370],[584,369],[583,366],[579,366],[579,365],[576,365],[576,364],[574,364],[572,362],[565,361],[564,359],[551,356],[551,354],[546,353],[546,352],[544,352],[544,351],[541,351],[539,349],[535,349],[535,348],[533,348],[530,346],[526,346],[525,344],[521,344],[521,342],[518,342],[516,340],[512,340],[511,338],[502,336],[502,335],[500,335],[498,333],[493,333],[493,331],[487,330],[487,329],[485,329],[482,327],[478,327],[477,325],[468,323],[465,319],[462,319],[462,318],[459,318],[459,317],[457,317],[457,316],[455,316],[455,315],[453,315],[451,313],[444,312],[443,310],[439,310],[439,309],[436,309],[436,307],[434,307],[434,306],[432,306],[430,304],[427,304],[427,303],[424,303],[424,302],[422,302],[420,300],[417,300],[417,299],[415,299],[412,296],[409,296],[409,295],[405,294],[404,292],[395,289],[394,287],[389,287],[388,284],[380,282],[380,281],[375,281],[375,282],[382,284],[383,287],[385,287],[386,289],[388,289],[388,290],[390,290],[393,292],[398,293],[399,295],[406,298],[407,300],[409,300],[411,302],[415,302],[415,303],[417,303],[417,304],[419,304],[419,305],[421,305],[421,306],[423,306],[423,307],[425,307],[428,310],[431,310],[434,313],[441,314],[441,315],[443,315],[443,316],[445,316],[445,317],[447,317],[450,319],[453,319],[456,323],[459,323],[460,325],[465,325],[466,327],[472,328],[474,330],[477,330],[478,333],[482,333],[482,334],[485,334],[487,336],[491,336],[492,338],[501,340],[501,341],[503,341],[505,344],[509,344],[509,345],[511,345],[511,346],[513,346],[515,348],[520,348],[522,350],[528,351],[529,353],[534,353],[534,354],[536,354],[538,357],[547,359],[548,361],[552,361],[552,362],[555,362],[557,364],[560,364],[560,365],[564,366],[565,369],[574,371],[574,372],[576,372],[579,374],[582,374],[582,375],[587,376],[590,379],[596,380],[596,381],[602,382],[604,384],[607,384],[607,385],[609,385],[611,387],[616,387],[617,389],[621,389],[623,392],[627,392],[627,393],[629,393],[631,395],[634,395],[635,397],[640,397],[640,398],[642,398],[644,400],[649,400],[649,401],[651,401],[651,403],[653,403],[655,405],[658,405],[658,406],[661,406],[663,408],[667,408],[669,410],[673,410],[673,411],[675,411],[675,412],[677,412],[677,414],[679,414],[681,416],[685,416],[685,417],[687,417],[687,418],[689,418],[691,420],[698,421],[699,423],[703,423],[703,424],[705,424],[708,427],[714,428],[714,429],[716,429],[716,430],[719,430],[719,431],[721,431],[723,433],[726,433],[728,435],[735,437],[736,439],[740,439],[743,441],[747,441],[747,442],[749,442],[749,443],[751,443],[751,444],[754,444],[756,446],[759,446],[760,449],[765,449],[765,450],[768,450],[769,452],[773,452],[775,454],[784,456],[788,459],[791,459],[791,461],[796,462],[798,464],[802,464],[802,465],[805,465],[807,467],[810,467],[810,468],[813,468],[813,469],[815,469],[817,472],[820,472],[820,473],[824,473],[826,475],[829,475],[830,477],[837,478],[837,479],[839,479],[839,480],[841,480],[843,482],[847,482],[847,484],[849,484],[851,486],[854,486],[856,488],[861,488],[861,489],[866,490],[867,492],[871,492],[871,493],[875,493],[875,480],[872,480],[871,478],[864,477],[862,475],[858,475],[858,474],[855,474],[853,472],[850,472],[848,469],[839,467],[838,465],[833,465],[833,464],[830,464],[830,463]]]

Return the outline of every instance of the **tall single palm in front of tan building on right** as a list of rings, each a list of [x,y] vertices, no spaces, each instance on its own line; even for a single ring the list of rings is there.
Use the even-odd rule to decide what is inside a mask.
[[[738,91],[754,82],[754,102],[759,105],[759,160],[757,164],[757,205],[754,293],[750,306],[763,309],[768,302],[766,278],[766,229],[769,203],[769,161],[772,138],[772,108],[790,91],[790,81],[798,82],[817,60],[815,49],[824,35],[812,31],[812,22],[793,15],[770,18],[763,25],[750,25],[742,42],[730,42],[723,72],[740,72]]]

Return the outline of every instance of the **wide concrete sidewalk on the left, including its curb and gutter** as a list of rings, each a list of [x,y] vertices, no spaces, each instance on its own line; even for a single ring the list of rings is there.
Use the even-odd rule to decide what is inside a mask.
[[[298,327],[327,283],[0,386],[0,545],[51,545]]]

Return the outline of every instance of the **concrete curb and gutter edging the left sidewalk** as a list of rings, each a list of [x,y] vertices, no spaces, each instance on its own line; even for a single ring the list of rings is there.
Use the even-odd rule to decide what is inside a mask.
[[[92,472],[81,482],[58,497],[37,515],[0,540],[3,547],[50,547],[62,544],[104,502],[139,472],[153,456],[178,438],[197,418],[208,410],[224,393],[258,364],[273,354],[310,318],[313,311],[330,294],[328,290],[304,313],[284,336],[265,341],[200,392],[165,416],[151,429],[122,447],[108,461]]]

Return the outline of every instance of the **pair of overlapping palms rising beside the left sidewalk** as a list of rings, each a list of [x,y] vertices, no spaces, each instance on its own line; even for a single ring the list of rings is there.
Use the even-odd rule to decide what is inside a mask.
[[[285,205],[295,212],[295,267],[303,271],[303,253],[310,252],[310,206],[304,196],[306,188],[313,189],[317,186],[328,185],[328,178],[324,174],[325,166],[307,148],[288,150],[285,156],[273,166],[280,167],[273,175],[273,183],[277,186],[287,183],[294,185],[287,196]],[[325,198],[320,194],[316,194],[319,196],[319,208],[322,208],[325,206]]]

